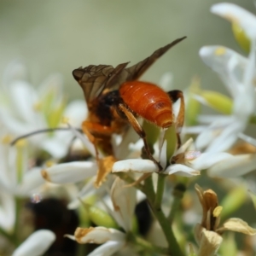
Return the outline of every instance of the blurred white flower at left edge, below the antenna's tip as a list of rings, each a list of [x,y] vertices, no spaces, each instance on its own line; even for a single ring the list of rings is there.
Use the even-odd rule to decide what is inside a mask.
[[[0,137],[0,177],[0,228],[11,234],[16,218],[15,196],[40,192],[44,179],[40,168],[28,168],[24,142],[10,147],[8,137]]]

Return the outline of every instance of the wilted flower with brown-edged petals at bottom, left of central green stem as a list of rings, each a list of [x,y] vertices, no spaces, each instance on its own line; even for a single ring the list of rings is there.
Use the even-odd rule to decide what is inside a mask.
[[[113,202],[113,217],[127,233],[131,231],[131,220],[136,205],[136,190],[124,186],[125,183],[119,177],[116,178],[111,189],[111,199]],[[90,256],[112,255],[125,247],[126,244],[124,232],[104,227],[78,228],[74,236],[67,235],[67,237],[79,243],[103,243],[102,246],[97,247],[90,253]]]

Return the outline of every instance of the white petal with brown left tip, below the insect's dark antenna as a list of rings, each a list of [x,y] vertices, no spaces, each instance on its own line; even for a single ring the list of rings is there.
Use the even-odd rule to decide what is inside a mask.
[[[90,161],[70,162],[51,166],[42,171],[44,179],[51,183],[76,183],[96,175],[96,163]]]

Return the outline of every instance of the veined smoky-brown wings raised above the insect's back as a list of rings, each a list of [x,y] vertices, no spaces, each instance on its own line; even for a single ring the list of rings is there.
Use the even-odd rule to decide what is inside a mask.
[[[116,88],[126,81],[137,80],[143,73],[150,67],[154,61],[164,55],[168,49],[181,42],[184,38],[178,38],[171,44],[157,49],[152,55],[137,64],[126,67],[129,62],[119,64],[113,68],[110,65],[90,65],[88,67],[79,67],[73,70],[73,77],[76,79],[82,89],[84,90],[84,97],[86,102],[92,98],[101,95],[102,91],[106,88]],[[126,68],[125,68],[126,67]]]

